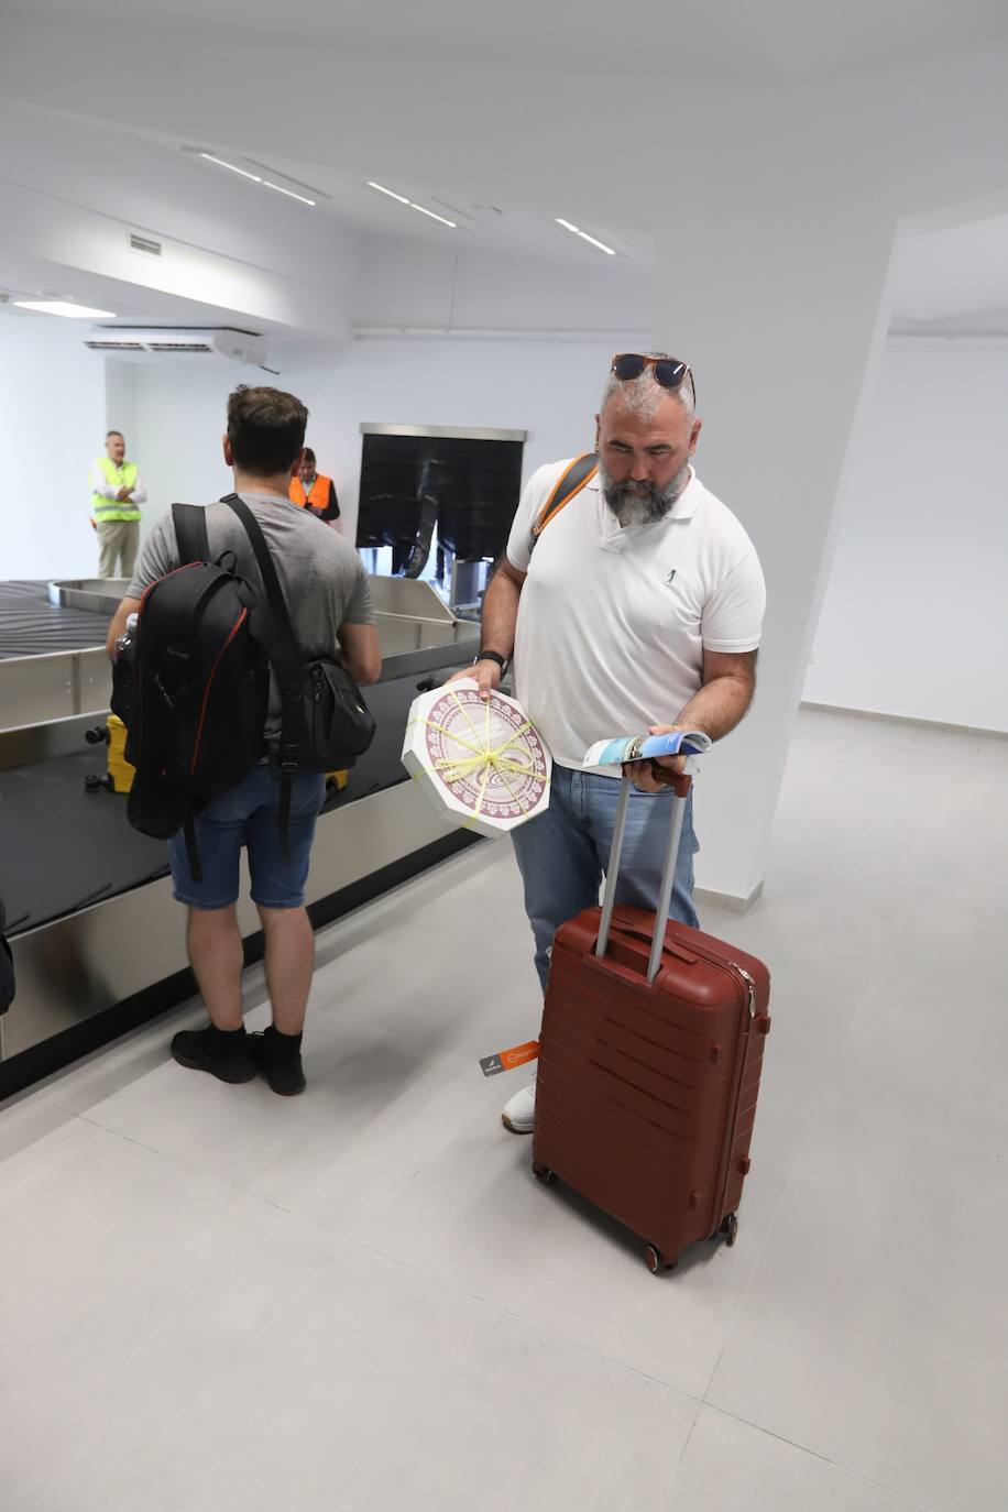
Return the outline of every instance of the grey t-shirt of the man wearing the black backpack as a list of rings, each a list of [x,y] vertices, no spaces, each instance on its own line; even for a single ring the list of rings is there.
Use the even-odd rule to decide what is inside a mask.
[[[305,661],[335,656],[342,624],[373,624],[367,573],[357,550],[308,510],[274,493],[243,493],[274,558],[295,638]],[[207,505],[210,558],[234,552],[236,572],[260,588],[258,565],[242,522],[225,503]],[[178,543],[171,511],[144,544],[130,599],[141,599],[159,578],[178,567]],[[271,677],[266,739],[280,733],[280,689]]]

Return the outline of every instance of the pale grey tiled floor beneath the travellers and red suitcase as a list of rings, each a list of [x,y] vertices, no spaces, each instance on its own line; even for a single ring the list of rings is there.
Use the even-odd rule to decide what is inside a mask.
[[[304,1098],[177,1067],[190,1005],[0,1108],[5,1512],[1005,1512],[1008,742],[802,712],[704,925],[774,1033],[739,1243],[660,1281],[479,1075],[505,845],[320,936]]]

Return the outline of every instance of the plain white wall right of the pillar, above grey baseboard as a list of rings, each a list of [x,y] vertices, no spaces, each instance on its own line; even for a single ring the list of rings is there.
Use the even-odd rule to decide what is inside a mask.
[[[804,697],[1008,730],[1008,342],[890,342]]]

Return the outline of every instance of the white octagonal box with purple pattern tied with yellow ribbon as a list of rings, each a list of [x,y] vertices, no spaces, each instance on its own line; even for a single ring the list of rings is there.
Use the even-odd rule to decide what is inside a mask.
[[[473,677],[413,700],[402,765],[447,824],[500,835],[544,812],[553,765],[520,703]]]

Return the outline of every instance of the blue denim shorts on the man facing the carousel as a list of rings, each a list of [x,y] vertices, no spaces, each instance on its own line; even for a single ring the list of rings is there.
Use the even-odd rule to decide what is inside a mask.
[[[203,881],[189,869],[186,838],[168,842],[171,875],[178,903],[190,909],[227,909],[239,895],[239,857],[248,847],[252,903],[263,909],[299,909],[308,880],[308,859],[319,809],[325,800],[322,773],[295,777],[287,826],[287,860],[280,833],[280,773],[252,767],[236,788],[213,798],[196,815],[196,845]]]

